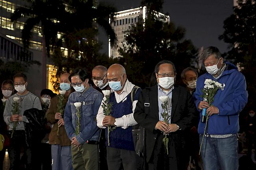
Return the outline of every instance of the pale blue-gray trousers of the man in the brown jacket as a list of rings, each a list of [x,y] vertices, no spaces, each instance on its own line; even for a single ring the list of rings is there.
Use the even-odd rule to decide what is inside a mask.
[[[71,146],[52,145],[52,170],[73,170]]]

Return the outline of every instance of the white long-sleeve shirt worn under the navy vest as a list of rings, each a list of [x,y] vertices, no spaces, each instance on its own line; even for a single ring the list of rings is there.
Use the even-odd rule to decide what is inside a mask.
[[[126,80],[126,83],[124,85],[124,88],[122,89],[122,92],[120,94],[117,94],[116,91],[114,91],[115,93],[115,99],[117,101],[117,103],[120,103],[122,101],[125,101],[127,99],[128,94],[130,94],[130,92],[132,92],[132,89],[134,88],[134,84],[132,84],[130,81],[128,81],[128,79]],[[111,90],[112,91],[112,90]],[[104,98],[102,100],[102,102],[104,101]],[[105,118],[105,115],[103,113],[103,108],[102,108],[102,102],[100,105],[100,108],[98,110],[98,114],[96,116],[97,119],[97,126],[99,128],[106,128],[103,126],[102,122],[103,119]],[[138,123],[134,120],[134,110],[137,104],[137,100],[133,101],[132,103],[132,113],[128,114],[128,115],[124,115],[121,118],[115,118],[115,125],[117,127],[122,127],[124,129],[126,129],[128,126],[133,126],[133,125],[137,125]]]

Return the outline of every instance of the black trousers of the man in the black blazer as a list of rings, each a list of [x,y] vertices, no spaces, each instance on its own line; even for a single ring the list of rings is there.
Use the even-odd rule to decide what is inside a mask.
[[[165,135],[159,134],[156,139],[153,154],[148,162],[148,170],[178,170],[174,141],[170,136],[168,142],[168,151],[163,144]]]

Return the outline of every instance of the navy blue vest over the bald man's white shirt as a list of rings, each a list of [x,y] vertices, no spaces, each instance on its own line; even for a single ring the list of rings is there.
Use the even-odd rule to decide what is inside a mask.
[[[134,100],[139,98],[139,90],[137,90]],[[114,118],[121,118],[124,115],[132,113],[132,99],[131,93],[126,96],[120,103],[117,103],[115,99],[115,93],[112,92],[110,95],[109,102],[113,103],[111,116]],[[108,146],[108,128],[105,129],[106,132],[106,146]],[[126,129],[117,127],[115,130],[109,132],[109,143],[110,147],[133,150],[134,151],[134,142],[132,138],[132,126],[129,126]]]

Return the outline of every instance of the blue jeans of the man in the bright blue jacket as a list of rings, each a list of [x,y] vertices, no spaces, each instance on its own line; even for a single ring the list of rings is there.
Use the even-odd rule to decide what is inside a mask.
[[[226,138],[204,137],[201,156],[204,170],[238,170],[237,135]]]

